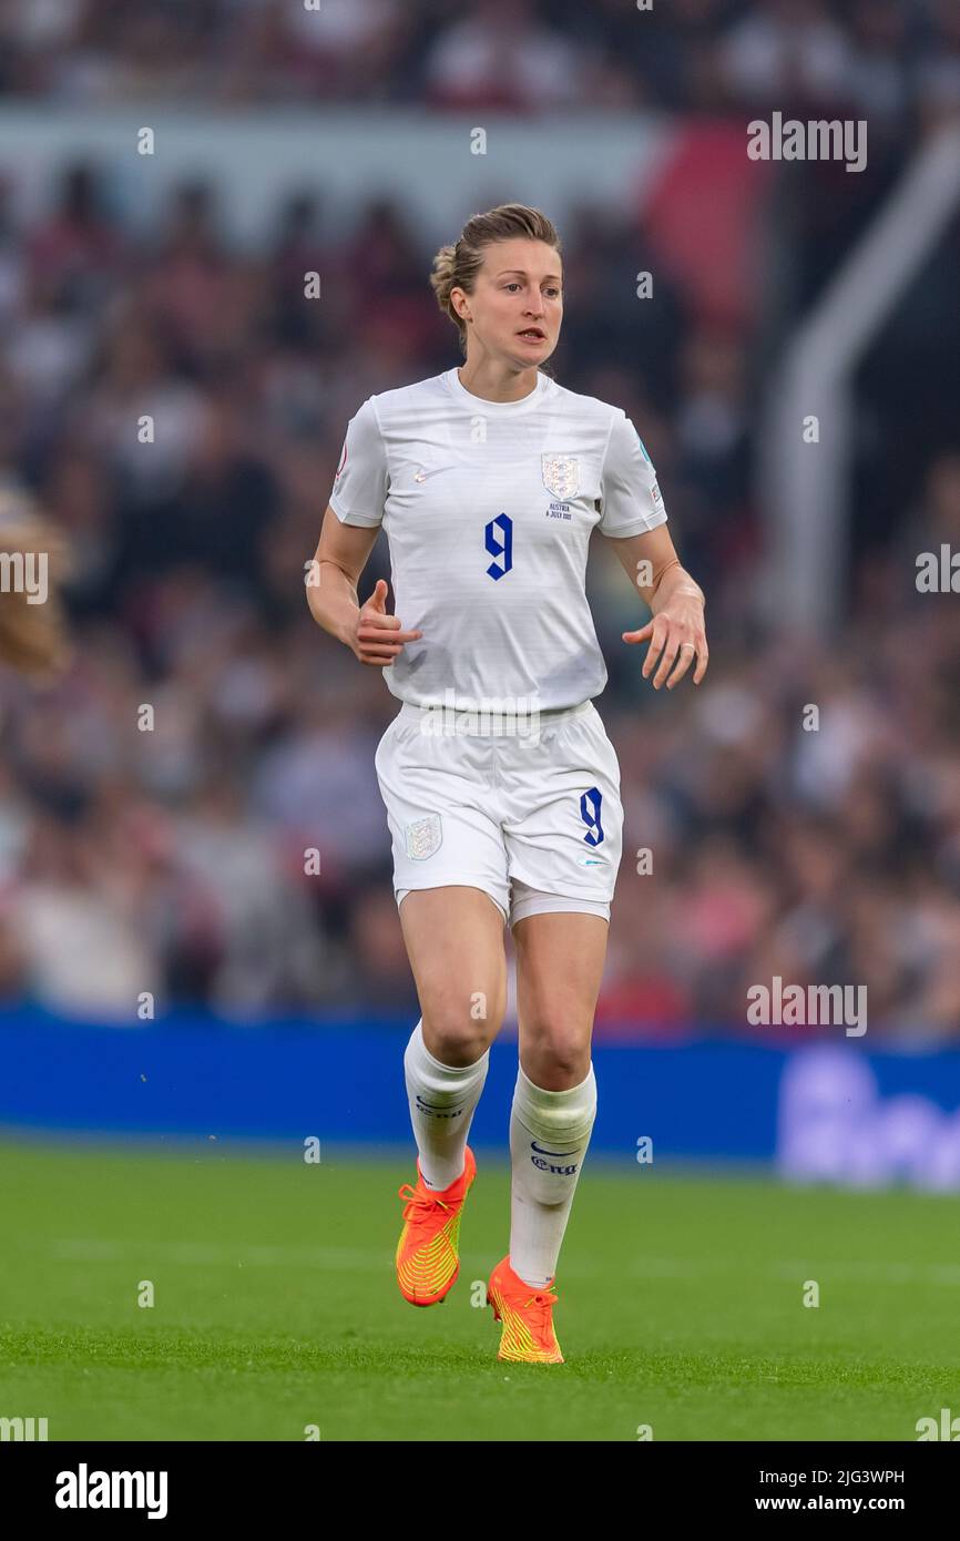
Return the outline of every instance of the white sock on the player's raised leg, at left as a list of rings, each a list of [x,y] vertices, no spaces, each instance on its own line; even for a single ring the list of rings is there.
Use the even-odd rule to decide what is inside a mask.
[[[490,1049],[473,1065],[441,1065],[424,1043],[418,1022],[404,1054],[410,1122],[427,1188],[448,1188],[464,1171],[467,1134],[490,1063]]]

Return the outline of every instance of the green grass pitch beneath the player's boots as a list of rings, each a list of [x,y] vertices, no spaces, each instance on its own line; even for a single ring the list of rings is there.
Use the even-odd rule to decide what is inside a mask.
[[[510,1365],[472,1304],[507,1251],[505,1162],[478,1153],[461,1276],[416,1310],[393,1276],[411,1156],[322,1156],[0,1147],[0,1416],[51,1441],[914,1441],[960,1413],[952,1197],[589,1160],[567,1362]]]

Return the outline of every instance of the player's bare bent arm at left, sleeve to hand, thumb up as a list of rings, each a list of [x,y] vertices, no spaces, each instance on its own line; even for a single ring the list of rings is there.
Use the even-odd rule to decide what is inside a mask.
[[[378,578],[364,606],[357,584],[378,525],[342,524],[328,505],[313,561],[307,566],[307,604],[317,626],[344,643],[362,664],[384,669],[421,632],[401,630],[396,615],[387,615],[387,584]]]

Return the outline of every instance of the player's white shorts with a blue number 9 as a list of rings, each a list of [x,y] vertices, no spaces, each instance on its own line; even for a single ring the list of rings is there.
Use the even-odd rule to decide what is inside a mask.
[[[510,926],[545,911],[609,922],[623,804],[593,703],[541,713],[527,738],[425,732],[433,718],[404,703],[374,758],[398,905],[410,889],[465,885],[488,894]],[[459,729],[464,715],[455,721]]]

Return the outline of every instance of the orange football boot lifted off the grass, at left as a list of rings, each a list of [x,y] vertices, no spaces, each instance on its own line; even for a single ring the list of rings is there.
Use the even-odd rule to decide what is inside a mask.
[[[407,1199],[407,1204],[396,1247],[396,1282],[411,1305],[435,1305],[444,1299],[461,1271],[461,1213],[476,1177],[476,1160],[467,1145],[462,1173],[442,1190],[427,1188],[419,1156],[416,1171],[416,1188],[408,1182],[398,1188],[398,1196]]]

